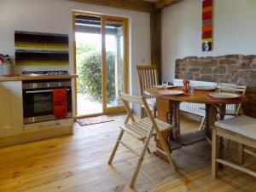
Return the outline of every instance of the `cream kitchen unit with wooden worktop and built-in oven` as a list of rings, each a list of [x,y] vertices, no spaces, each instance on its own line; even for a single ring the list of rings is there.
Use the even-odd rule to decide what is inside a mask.
[[[74,90],[72,85],[75,78],[78,78],[78,75],[67,73],[62,75],[30,74],[14,75],[12,77],[0,76],[0,117],[3,117],[0,118],[0,148],[72,134],[73,113],[72,108],[69,107],[72,107],[71,105],[73,104],[72,91]],[[64,84],[62,84],[62,80]],[[32,89],[30,91],[23,91],[23,88],[27,88],[27,84],[31,84]],[[52,96],[50,96],[52,90],[64,87],[70,90],[67,91],[68,115],[66,119],[47,119],[49,116],[54,115],[53,111],[50,110],[45,115],[47,117],[45,119],[42,118],[44,120],[26,123],[25,112],[30,113],[29,118],[34,119],[35,113],[39,111],[40,113],[44,112],[45,108],[48,110],[49,106],[52,105]],[[41,88],[44,90],[41,90]],[[43,96],[38,95],[40,92],[45,94]],[[27,94],[29,94],[28,99]],[[40,102],[42,99],[44,103]]]

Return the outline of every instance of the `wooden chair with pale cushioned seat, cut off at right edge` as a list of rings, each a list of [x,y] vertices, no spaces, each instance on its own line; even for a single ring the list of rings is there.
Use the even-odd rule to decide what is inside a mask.
[[[218,157],[218,137],[225,137],[240,143],[239,161],[240,164],[243,164],[243,153],[256,157],[256,154],[252,151],[243,148],[244,145],[256,148],[256,119],[241,115],[232,119],[218,121],[212,129],[212,176],[217,177],[218,163],[220,163],[256,177],[256,172],[253,170]]]

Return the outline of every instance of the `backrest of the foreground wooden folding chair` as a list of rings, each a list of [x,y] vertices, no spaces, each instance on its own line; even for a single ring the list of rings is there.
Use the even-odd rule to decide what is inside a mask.
[[[125,124],[128,123],[128,120],[131,118],[131,121],[134,122],[135,118],[131,112],[130,103],[135,103],[140,106],[143,105],[145,108],[146,113],[148,114],[148,118],[151,120],[152,124],[154,125],[154,128],[158,129],[158,126],[154,120],[154,116],[151,112],[151,110],[148,107],[148,102],[146,102],[145,96],[130,96],[126,93],[123,93],[119,90],[119,96],[121,100],[124,102],[125,110],[127,112],[127,118],[125,119]]]

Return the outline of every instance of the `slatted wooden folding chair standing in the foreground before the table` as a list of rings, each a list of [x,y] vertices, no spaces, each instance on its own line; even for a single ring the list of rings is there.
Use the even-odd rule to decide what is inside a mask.
[[[141,152],[141,154],[137,154],[139,156],[139,159],[137,161],[136,171],[133,173],[133,176],[131,177],[131,182],[130,182],[131,188],[134,187],[134,184],[137,180],[137,175],[142,166],[144,155],[148,149],[150,138],[154,137],[154,135],[159,137],[160,143],[164,148],[165,154],[167,156],[167,159],[170,162],[170,165],[174,170],[177,170],[176,163],[173,160],[172,154],[170,153],[169,148],[161,134],[161,131],[171,130],[172,125],[169,125],[166,122],[161,121],[159,119],[154,119],[150,109],[148,108],[148,103],[146,102],[145,96],[130,96],[122,92],[119,92],[119,96],[124,102],[125,110],[127,112],[127,118],[125,119],[125,125],[119,126],[121,131],[114,145],[113,151],[109,157],[108,164],[110,165],[112,163],[114,154],[116,153],[117,148],[119,147],[119,143],[123,144],[126,148],[130,149],[132,152],[137,154],[137,152],[135,152],[127,144],[121,141],[124,133],[126,132],[129,135],[131,135],[131,137],[137,138],[138,140],[142,141],[144,144],[143,151]],[[148,117],[144,119],[136,120],[133,114],[131,113],[131,108],[129,108],[130,102],[138,105],[143,105],[146,113],[148,114]],[[128,123],[129,119],[131,119],[131,123]]]

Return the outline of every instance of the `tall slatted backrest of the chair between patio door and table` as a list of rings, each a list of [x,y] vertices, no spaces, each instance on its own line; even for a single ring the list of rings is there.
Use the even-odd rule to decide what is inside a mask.
[[[144,95],[144,90],[147,90],[149,87],[153,87],[159,83],[157,67],[155,65],[137,66],[137,75],[141,96]]]

